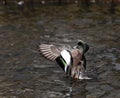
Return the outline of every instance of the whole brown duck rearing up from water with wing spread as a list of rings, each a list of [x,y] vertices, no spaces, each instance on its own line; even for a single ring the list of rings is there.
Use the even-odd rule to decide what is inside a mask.
[[[85,54],[89,45],[78,40],[74,47],[63,44],[40,44],[40,53],[48,60],[57,62],[65,74],[72,79],[91,79],[87,76]]]

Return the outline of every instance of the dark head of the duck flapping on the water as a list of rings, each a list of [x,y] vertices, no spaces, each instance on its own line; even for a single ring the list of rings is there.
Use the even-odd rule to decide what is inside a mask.
[[[76,48],[84,54],[89,50],[89,45],[82,40],[78,40]]]

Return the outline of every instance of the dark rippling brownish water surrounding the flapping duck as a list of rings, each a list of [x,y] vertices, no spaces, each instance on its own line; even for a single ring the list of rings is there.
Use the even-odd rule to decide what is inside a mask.
[[[101,15],[76,5],[1,6],[0,98],[120,98],[120,22]],[[78,39],[90,45],[91,80],[70,81],[37,50],[39,43],[74,46]]]

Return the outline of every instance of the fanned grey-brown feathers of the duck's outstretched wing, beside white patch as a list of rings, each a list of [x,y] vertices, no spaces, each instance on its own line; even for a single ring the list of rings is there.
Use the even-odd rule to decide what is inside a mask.
[[[39,50],[41,54],[49,60],[55,61],[55,59],[60,56],[62,50],[66,49],[65,46],[58,45],[48,45],[41,44],[39,45]]]

